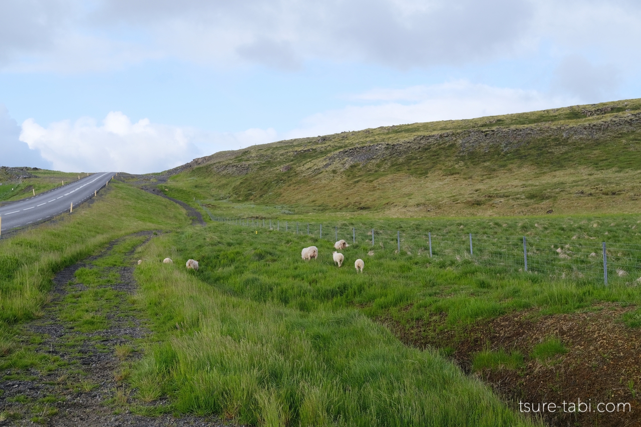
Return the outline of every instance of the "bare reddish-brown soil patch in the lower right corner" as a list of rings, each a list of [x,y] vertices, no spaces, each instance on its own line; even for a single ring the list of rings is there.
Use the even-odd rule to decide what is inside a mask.
[[[553,402],[556,412],[545,412],[550,426],[641,425],[641,330],[615,319],[633,310],[617,305],[592,307],[595,311],[540,315],[526,310],[503,315],[458,331],[436,332],[435,324],[419,321],[411,328],[385,319],[403,342],[416,347],[453,349],[454,361],[471,373],[476,353],[486,349],[520,351],[524,366],[517,369],[484,369],[478,373],[498,394],[519,410],[519,402]],[[444,319],[443,319],[444,320]],[[442,323],[441,323],[442,324]],[[564,355],[545,362],[531,357],[534,346],[550,337],[567,348]],[[591,403],[592,412],[563,412],[563,401]],[[626,412],[599,413],[597,403],[629,403]],[[604,407],[601,406],[601,409]],[[610,406],[612,408],[612,406]]]

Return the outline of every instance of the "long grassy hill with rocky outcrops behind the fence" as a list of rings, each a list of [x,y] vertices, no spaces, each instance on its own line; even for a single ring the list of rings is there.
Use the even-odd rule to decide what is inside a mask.
[[[631,99],[225,151],[165,172],[163,190],[295,213],[626,213],[641,207],[640,168],[641,99]]]

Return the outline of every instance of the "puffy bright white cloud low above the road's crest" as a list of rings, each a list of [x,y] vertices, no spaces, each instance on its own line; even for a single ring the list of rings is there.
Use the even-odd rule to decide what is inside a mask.
[[[60,121],[44,128],[33,119],[22,123],[20,140],[38,149],[61,171],[160,172],[215,151],[271,142],[274,130],[212,134],[190,128],[132,123],[122,112],[94,119]]]

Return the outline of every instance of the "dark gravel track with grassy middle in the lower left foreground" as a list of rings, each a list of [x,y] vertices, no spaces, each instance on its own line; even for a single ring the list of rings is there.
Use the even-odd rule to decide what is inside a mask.
[[[146,235],[147,240],[152,236],[151,232],[141,234]],[[131,266],[103,267],[103,273],[117,278],[113,283],[91,285],[94,289],[110,292],[111,303],[97,309],[106,319],[106,327],[91,332],[79,330],[81,328],[77,326],[87,314],[83,319],[69,321],[68,296],[82,298],[82,293],[89,289],[78,280],[76,271],[83,267],[94,268],[92,263],[108,256],[115,243],[101,254],[56,274],[51,301],[45,306],[44,314],[24,326],[22,337],[35,357],[49,363],[41,364],[39,370],[0,372],[3,376],[0,379],[0,414],[4,414],[0,426],[228,425],[213,417],[175,418],[167,414],[149,417],[131,412],[132,405],[146,404],[135,401],[136,390],[126,385],[128,366],[142,355],[141,341],[149,333],[129,301],[137,289],[133,278],[133,251],[126,255],[127,264]],[[157,401],[154,403],[158,404]]]

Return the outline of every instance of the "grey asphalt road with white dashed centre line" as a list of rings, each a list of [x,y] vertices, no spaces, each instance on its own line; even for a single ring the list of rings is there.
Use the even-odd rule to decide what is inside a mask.
[[[1,231],[46,221],[58,213],[69,212],[72,203],[76,208],[94,197],[94,192],[104,187],[114,175],[115,172],[92,174],[64,187],[0,206]]]

